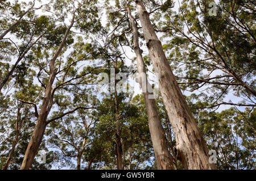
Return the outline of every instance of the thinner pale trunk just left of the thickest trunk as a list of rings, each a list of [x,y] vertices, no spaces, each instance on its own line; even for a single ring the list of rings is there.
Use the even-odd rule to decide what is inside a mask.
[[[158,115],[158,108],[156,107],[155,99],[149,99],[150,93],[147,90],[147,86],[151,87],[151,85],[147,81],[146,67],[142,58],[141,49],[139,48],[138,29],[135,23],[135,19],[131,15],[129,7],[127,10],[129,12],[129,18],[131,20],[131,26],[133,28],[133,44],[137,56],[138,73],[144,74],[144,80],[139,79],[139,83],[141,87],[146,86],[143,87],[142,90],[146,103],[148,125],[155,152],[156,166],[159,170],[173,169],[173,158],[170,154],[170,151],[168,150],[166,136],[164,134],[164,129]],[[142,81],[146,83],[143,85]]]

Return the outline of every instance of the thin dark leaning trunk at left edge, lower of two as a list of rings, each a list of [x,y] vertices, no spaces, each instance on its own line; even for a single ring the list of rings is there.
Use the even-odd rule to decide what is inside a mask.
[[[3,79],[3,81],[0,84],[0,91],[2,90],[3,86],[5,86],[5,83],[9,80],[9,78],[11,77],[11,75],[13,75],[14,70],[16,69],[16,67],[18,66],[19,62],[24,58],[24,56],[27,54],[27,52],[38,42],[38,40],[44,35],[44,33],[42,35],[40,35],[38,37],[38,39],[36,39],[22,54],[20,54],[20,56],[18,57],[18,59],[16,60],[13,68],[11,68],[11,70],[9,71],[8,74],[6,74],[5,78]]]

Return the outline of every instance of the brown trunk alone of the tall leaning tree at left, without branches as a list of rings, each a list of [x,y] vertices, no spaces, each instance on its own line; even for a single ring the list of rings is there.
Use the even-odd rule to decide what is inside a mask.
[[[30,167],[34,161],[35,155],[38,152],[38,148],[42,142],[44,132],[46,131],[47,116],[48,116],[49,112],[51,111],[51,107],[53,104],[53,93],[54,92],[53,92],[52,85],[53,85],[54,79],[56,77],[56,72],[57,72],[57,70],[55,68],[55,61],[56,61],[57,57],[59,56],[61,49],[64,46],[64,43],[67,39],[69,31],[73,27],[73,24],[75,22],[75,12],[73,13],[73,18],[72,18],[71,24],[65,31],[65,35],[59,45],[59,48],[57,49],[56,53],[54,54],[54,56],[52,57],[52,59],[50,61],[49,66],[50,66],[51,75],[50,75],[49,81],[47,83],[46,91],[44,92],[42,108],[40,110],[38,120],[35,125],[34,132],[32,133],[32,137],[27,146],[27,150],[24,155],[24,159],[23,159],[22,166],[20,167],[20,169],[30,169]]]

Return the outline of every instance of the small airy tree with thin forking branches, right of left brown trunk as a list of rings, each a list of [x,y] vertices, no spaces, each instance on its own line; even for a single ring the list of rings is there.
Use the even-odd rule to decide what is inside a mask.
[[[94,111],[92,109],[96,109],[98,104],[96,95],[93,95],[92,87],[85,87],[80,83],[73,87],[73,91],[69,91],[69,94],[63,94],[62,91],[60,94],[55,95],[57,111],[53,111],[52,119],[49,120],[51,123],[46,130],[49,146],[60,150],[59,154],[63,155],[63,157],[70,160],[76,158],[77,170],[80,170],[81,165],[84,165],[82,156],[87,154],[85,151],[89,151],[90,148],[88,147],[91,147],[90,145],[92,144],[95,125],[95,119],[93,119]],[[77,109],[77,105],[90,106],[92,109]],[[64,115],[64,112],[68,112],[65,110],[76,109],[76,112],[70,111]],[[57,117],[57,115],[60,116]],[[69,168],[72,167],[69,166]]]

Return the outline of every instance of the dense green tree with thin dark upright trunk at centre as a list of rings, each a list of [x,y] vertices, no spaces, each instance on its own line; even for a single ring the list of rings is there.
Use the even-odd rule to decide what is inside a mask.
[[[125,65],[125,53],[122,52],[122,47],[119,46],[119,43],[120,41],[118,39],[106,36],[104,48],[101,49],[101,58],[105,63],[104,73],[107,77],[110,77],[110,82],[108,83],[105,93],[103,92],[101,95],[104,96],[104,99],[101,98],[101,106],[97,109],[97,111],[100,112],[99,116],[101,118],[97,118],[100,119],[100,121],[96,124],[96,141],[93,142],[93,145],[99,146],[98,142],[106,145],[106,152],[110,152],[111,156],[90,156],[90,159],[96,159],[94,165],[100,164],[95,162],[102,161],[104,165],[108,163],[109,169],[115,167],[112,165],[114,161],[116,162],[117,169],[127,168],[126,143],[130,135],[127,134],[125,137],[123,134],[126,133],[124,129],[126,128],[127,121],[130,120],[130,117],[134,117],[134,113],[129,112],[129,103],[126,103],[127,99],[131,99],[132,96],[130,92],[132,88],[131,85],[127,84],[126,77],[128,77],[130,73],[134,73],[135,70],[132,66]],[[121,82],[118,82],[119,79],[121,79]],[[109,78],[107,80],[109,80]],[[111,106],[104,108],[103,110],[105,111],[102,112],[102,105],[107,105],[106,103]],[[127,105],[127,107],[125,105]],[[131,113],[131,115],[129,115],[129,113]],[[108,114],[108,116],[105,114]],[[101,136],[102,133],[98,131],[98,129],[108,129],[109,132],[104,131],[104,136]],[[109,136],[107,134],[109,134]],[[105,139],[105,141],[102,141],[102,138]],[[100,148],[102,148],[102,146],[100,146]],[[114,149],[114,151],[111,149]],[[93,150],[98,151],[99,149],[93,146]]]

